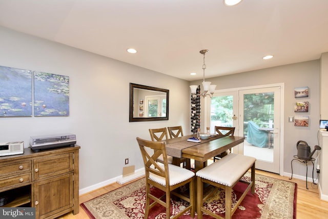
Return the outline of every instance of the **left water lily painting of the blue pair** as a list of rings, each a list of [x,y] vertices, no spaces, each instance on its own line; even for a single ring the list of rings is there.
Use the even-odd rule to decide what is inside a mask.
[[[0,117],[32,116],[32,71],[0,66]]]

